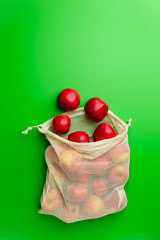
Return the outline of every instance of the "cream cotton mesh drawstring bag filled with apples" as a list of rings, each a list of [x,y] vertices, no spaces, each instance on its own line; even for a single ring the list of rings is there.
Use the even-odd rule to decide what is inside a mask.
[[[121,211],[127,205],[124,185],[129,177],[127,132],[131,120],[126,124],[108,111],[103,121],[93,122],[84,108],[64,114],[71,118],[70,131],[65,135],[54,133],[53,118],[35,126],[51,144],[45,151],[48,168],[39,213],[72,223]],[[93,132],[103,122],[114,127],[117,136],[93,142]],[[75,131],[88,133],[90,143],[67,140]]]

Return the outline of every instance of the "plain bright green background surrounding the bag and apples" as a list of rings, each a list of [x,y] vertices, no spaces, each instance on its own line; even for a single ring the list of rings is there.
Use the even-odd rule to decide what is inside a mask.
[[[0,0],[0,239],[160,239],[160,1]],[[74,88],[126,121],[128,206],[66,224],[37,213],[49,143],[33,129]]]

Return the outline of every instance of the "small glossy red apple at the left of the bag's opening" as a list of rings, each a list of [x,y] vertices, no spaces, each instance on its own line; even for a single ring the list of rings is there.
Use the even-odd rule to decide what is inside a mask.
[[[65,134],[69,131],[71,120],[66,115],[58,115],[53,118],[52,127],[56,133]]]

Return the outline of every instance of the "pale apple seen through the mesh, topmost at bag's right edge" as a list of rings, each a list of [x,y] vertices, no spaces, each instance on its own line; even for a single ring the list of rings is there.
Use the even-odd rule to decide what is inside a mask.
[[[108,152],[108,156],[113,162],[125,162],[129,156],[129,148],[124,144],[115,146]]]

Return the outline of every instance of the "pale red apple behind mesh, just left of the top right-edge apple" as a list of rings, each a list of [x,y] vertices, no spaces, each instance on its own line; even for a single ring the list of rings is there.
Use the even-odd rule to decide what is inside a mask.
[[[98,158],[90,160],[88,163],[91,172],[94,174],[102,173],[109,167],[110,164],[111,160],[107,157],[106,154],[103,154]]]

